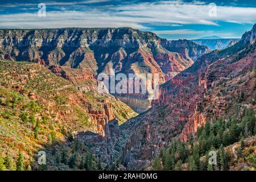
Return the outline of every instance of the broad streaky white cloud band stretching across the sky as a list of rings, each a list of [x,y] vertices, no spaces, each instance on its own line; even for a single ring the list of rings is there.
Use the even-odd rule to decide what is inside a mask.
[[[96,3],[108,0],[89,0]],[[56,5],[56,4],[52,4]],[[59,5],[59,3],[58,3]],[[207,24],[218,26],[219,21],[232,23],[255,23],[256,8],[217,6],[217,16],[209,16],[209,7],[201,1],[143,2],[117,6],[82,6],[80,10],[47,11],[47,17],[37,13],[0,14],[0,27],[133,27],[145,29],[145,24],[183,25]],[[73,6],[72,6],[73,7]],[[74,6],[75,7],[75,6]],[[47,9],[48,10],[48,9]],[[188,30],[187,30],[188,31]]]

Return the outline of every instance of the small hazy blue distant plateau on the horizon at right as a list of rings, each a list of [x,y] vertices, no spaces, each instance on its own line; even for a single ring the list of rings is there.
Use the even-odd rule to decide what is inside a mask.
[[[212,51],[215,49],[224,49],[228,47],[230,42],[236,41],[238,42],[240,39],[195,39],[192,40],[196,44],[201,46],[207,46]]]

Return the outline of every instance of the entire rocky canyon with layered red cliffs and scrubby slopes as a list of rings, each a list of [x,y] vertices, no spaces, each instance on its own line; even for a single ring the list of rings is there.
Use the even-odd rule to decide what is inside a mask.
[[[255,40],[256,24],[239,42],[212,52],[189,40],[161,39],[133,28],[1,29],[0,107],[13,108],[11,116],[1,113],[1,124],[5,133],[17,130],[1,136],[3,146],[17,152],[8,143],[21,135],[27,143],[14,145],[21,146],[26,160],[44,148],[51,154],[51,170],[72,168],[70,162],[57,162],[65,151],[79,162],[93,155],[97,169],[151,169],[174,139],[190,141],[207,122],[232,115],[233,107],[238,113],[243,107],[256,109]],[[158,73],[158,98],[99,94],[97,76],[113,71]],[[40,122],[26,122],[23,113]],[[33,138],[38,125],[39,137]],[[52,142],[53,136],[59,141]]]

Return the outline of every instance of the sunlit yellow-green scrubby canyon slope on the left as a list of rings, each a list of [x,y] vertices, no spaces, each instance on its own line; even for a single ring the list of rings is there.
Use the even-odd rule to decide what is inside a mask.
[[[0,65],[1,85],[42,102],[47,112],[55,113],[50,119],[65,123],[73,133],[93,131],[105,135],[109,121],[123,123],[137,115],[113,96],[97,94],[96,80],[84,71],[72,69],[69,73],[70,68],[53,66],[53,74],[40,64],[0,61]]]

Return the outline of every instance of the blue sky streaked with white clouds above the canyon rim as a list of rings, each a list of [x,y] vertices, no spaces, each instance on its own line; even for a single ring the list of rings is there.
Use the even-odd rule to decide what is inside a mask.
[[[39,3],[46,4],[45,17],[38,16]],[[0,28],[133,27],[196,39],[241,38],[255,23],[255,0],[0,0]]]

